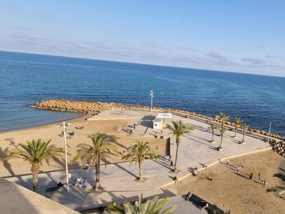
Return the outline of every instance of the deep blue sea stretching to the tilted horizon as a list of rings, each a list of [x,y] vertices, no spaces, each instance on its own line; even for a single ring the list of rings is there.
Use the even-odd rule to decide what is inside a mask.
[[[43,99],[140,104],[241,116],[285,136],[285,78],[0,51],[0,131],[76,118],[29,108]]]

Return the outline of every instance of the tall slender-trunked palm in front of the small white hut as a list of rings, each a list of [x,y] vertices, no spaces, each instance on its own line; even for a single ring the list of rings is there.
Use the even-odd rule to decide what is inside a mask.
[[[176,137],[176,156],[175,156],[175,165],[174,165],[174,172],[177,173],[177,158],[178,158],[178,148],[180,145],[180,141],[182,136],[185,133],[189,133],[190,131],[194,130],[194,128],[189,123],[184,123],[183,121],[172,121],[172,124],[166,124],[164,129],[169,129],[170,133]]]

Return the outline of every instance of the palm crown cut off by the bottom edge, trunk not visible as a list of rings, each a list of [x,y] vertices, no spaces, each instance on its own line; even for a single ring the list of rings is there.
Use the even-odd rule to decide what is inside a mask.
[[[162,210],[167,202],[167,197],[159,200],[158,195],[156,195],[143,203],[141,195],[137,204],[133,205],[130,201],[127,201],[123,204],[109,205],[108,212],[111,214],[172,214],[175,210],[175,205]]]

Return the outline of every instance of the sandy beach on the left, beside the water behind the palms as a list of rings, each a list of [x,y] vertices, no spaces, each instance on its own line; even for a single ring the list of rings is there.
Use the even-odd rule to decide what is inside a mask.
[[[166,139],[155,139],[150,136],[137,136],[130,135],[128,131],[117,131],[118,126],[122,128],[131,129],[136,120],[108,120],[108,121],[86,121],[87,118],[93,116],[92,114],[82,116],[66,123],[71,123],[71,126],[66,126],[68,131],[75,131],[75,135],[71,139],[67,139],[68,145],[68,166],[69,168],[79,168],[80,165],[71,163],[71,159],[76,155],[76,145],[78,143],[90,143],[91,140],[88,138],[88,135],[91,133],[105,133],[110,138],[110,141],[115,143],[118,147],[118,151],[122,152],[126,150],[129,146],[132,146],[135,141],[144,141],[149,142],[151,146],[157,148],[157,145],[160,145],[157,148],[158,153],[161,155],[165,154],[165,145]],[[8,151],[11,148],[14,148],[19,143],[26,143],[26,141],[31,141],[33,139],[41,138],[43,141],[51,140],[51,145],[57,147],[64,147],[63,137],[59,136],[63,131],[63,127],[58,127],[58,124],[62,123],[52,123],[45,126],[38,126],[33,128],[26,128],[17,131],[9,131],[0,133],[0,158],[1,167],[0,177],[14,176],[14,175],[24,175],[31,173],[31,165],[28,162],[23,162],[21,159],[11,159],[9,161],[3,161],[3,158],[6,157],[5,151]],[[83,129],[77,129],[78,126],[84,126]],[[64,154],[63,154],[64,157]],[[112,159],[108,159],[109,163],[121,162],[122,156],[112,156]],[[80,164],[80,163],[79,163]],[[43,162],[41,165],[41,172],[48,172],[54,170],[63,170],[65,168],[65,162],[63,158],[49,160],[48,162]]]

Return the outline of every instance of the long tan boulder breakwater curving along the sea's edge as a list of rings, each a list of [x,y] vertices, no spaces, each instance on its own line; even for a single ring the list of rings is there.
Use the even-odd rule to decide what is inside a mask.
[[[140,110],[140,111],[150,111],[150,106],[141,106],[141,105],[130,105],[130,104],[124,104],[124,103],[103,103],[103,102],[90,102],[90,101],[73,101],[73,100],[66,100],[66,99],[48,99],[48,100],[42,100],[38,101],[36,103],[31,104],[31,108],[38,108],[48,111],[65,111],[65,112],[79,112],[79,113],[100,113],[105,110],[113,110],[113,109],[133,109],[133,110]],[[199,113],[190,112],[190,111],[182,111],[179,109],[173,109],[173,108],[160,108],[160,107],[153,107],[153,111],[165,111],[169,113],[174,113],[176,115],[180,116],[194,116],[197,118],[200,118],[204,121],[215,121],[219,123],[219,120],[204,116]],[[227,126],[235,126],[232,122],[227,122]],[[239,129],[241,126],[239,126]],[[257,133],[264,135],[266,137],[269,136],[269,133],[266,131],[261,131],[259,129],[255,128],[247,128],[247,131],[249,133]],[[271,138],[276,138],[280,140],[284,140],[284,136],[280,136],[276,133],[270,133]]]

